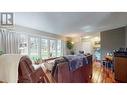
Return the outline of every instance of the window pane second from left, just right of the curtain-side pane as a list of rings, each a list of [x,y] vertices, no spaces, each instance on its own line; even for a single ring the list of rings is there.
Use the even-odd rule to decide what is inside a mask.
[[[30,57],[32,60],[39,58],[39,39],[36,37],[30,37]]]

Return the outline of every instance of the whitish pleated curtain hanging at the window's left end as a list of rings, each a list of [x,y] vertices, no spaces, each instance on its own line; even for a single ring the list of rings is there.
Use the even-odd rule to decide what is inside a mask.
[[[18,53],[18,34],[6,29],[0,29],[0,49],[4,53]]]

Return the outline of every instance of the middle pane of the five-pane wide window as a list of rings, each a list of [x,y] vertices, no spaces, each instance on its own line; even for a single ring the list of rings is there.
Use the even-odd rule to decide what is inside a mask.
[[[49,56],[49,49],[48,49],[48,40],[41,39],[41,57],[42,59],[47,59]]]

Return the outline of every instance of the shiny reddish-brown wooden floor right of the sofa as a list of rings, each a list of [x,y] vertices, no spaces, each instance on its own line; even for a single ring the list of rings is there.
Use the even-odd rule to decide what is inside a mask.
[[[92,83],[116,83],[114,73],[111,69],[105,68],[100,62],[93,63]]]

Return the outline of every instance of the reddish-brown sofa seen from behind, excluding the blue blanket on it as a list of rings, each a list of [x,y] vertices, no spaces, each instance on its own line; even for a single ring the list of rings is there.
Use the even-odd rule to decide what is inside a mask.
[[[86,56],[88,64],[75,71],[70,71],[68,61],[63,57],[57,58],[53,67],[52,76],[57,83],[88,83],[92,77],[92,55]]]

